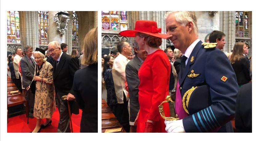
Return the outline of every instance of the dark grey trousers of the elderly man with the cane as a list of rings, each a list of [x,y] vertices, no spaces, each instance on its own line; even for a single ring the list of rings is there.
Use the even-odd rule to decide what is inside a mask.
[[[58,130],[57,133],[70,133],[70,124],[69,124],[69,112],[68,112],[68,107],[67,105],[64,104],[62,101],[61,96],[57,93],[57,105],[58,105],[58,110],[60,114],[60,120],[58,123]],[[72,113],[71,113],[72,115]]]

